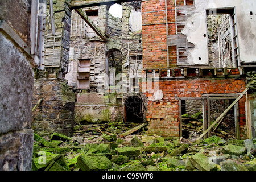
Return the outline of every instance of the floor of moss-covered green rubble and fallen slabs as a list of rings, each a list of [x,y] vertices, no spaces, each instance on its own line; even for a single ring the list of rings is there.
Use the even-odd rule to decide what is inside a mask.
[[[256,139],[147,135],[138,123],[77,125],[75,137],[34,134],[34,171],[255,171]]]

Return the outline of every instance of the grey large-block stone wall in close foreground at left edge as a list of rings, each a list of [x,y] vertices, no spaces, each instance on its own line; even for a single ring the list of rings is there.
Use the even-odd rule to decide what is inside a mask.
[[[30,2],[0,2],[0,171],[32,169],[34,60],[25,47],[30,46]]]

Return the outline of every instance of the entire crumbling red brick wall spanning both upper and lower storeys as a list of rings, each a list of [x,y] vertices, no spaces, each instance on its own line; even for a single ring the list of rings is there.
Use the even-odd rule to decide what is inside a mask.
[[[169,35],[175,35],[176,32],[180,32],[184,28],[179,27],[178,24],[176,30],[176,16],[179,16],[180,12],[175,12],[176,7],[184,6],[184,2],[186,2],[186,5],[193,5],[194,3],[194,1],[172,0],[167,1],[166,6],[164,0],[142,1],[143,68],[146,69],[144,70],[144,73],[147,74],[148,71],[150,73],[155,71],[155,73],[164,76],[156,82],[156,84],[159,85],[159,90],[162,90],[163,92],[163,98],[158,101],[152,101],[150,99],[148,101],[147,121],[149,123],[149,133],[159,134],[167,138],[181,137],[179,135],[178,98],[200,98],[202,94],[209,93],[242,93],[246,87],[243,78],[235,79],[232,77],[228,78],[227,76],[219,77],[217,76],[217,70],[215,73],[210,73],[209,71],[208,74],[204,73],[205,71],[203,71],[203,69],[201,70],[201,68],[193,70],[189,67],[189,64],[184,64],[183,67],[180,68],[179,65],[177,65],[178,54],[175,44],[168,46],[169,68],[174,68],[173,71],[170,69],[171,74],[168,75],[167,43],[169,40],[167,38]],[[168,28],[166,27],[166,23],[168,24]],[[177,42],[184,41],[181,39],[179,40],[179,38],[175,36],[171,37],[177,39]],[[205,66],[205,69],[210,68],[210,66],[212,66],[212,64]],[[196,67],[196,65],[194,65],[194,67]],[[165,70],[162,68],[165,68]],[[193,73],[191,73],[190,70],[193,70]],[[240,72],[237,68],[230,70],[224,69],[221,71],[221,75],[229,75],[229,73],[231,75],[234,74],[239,76]],[[210,75],[212,75],[212,78],[208,78]],[[194,76],[197,78],[193,78]],[[216,78],[216,76],[218,78]],[[180,79],[177,80],[177,77],[180,77]],[[146,96],[148,98],[154,98],[154,93],[149,93],[147,90]],[[239,101],[239,110],[240,137],[241,139],[245,139],[245,97]]]

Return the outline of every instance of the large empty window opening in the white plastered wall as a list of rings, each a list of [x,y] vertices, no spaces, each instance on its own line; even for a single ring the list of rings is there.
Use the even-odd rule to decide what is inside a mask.
[[[234,9],[207,11],[209,64],[214,68],[240,65]]]

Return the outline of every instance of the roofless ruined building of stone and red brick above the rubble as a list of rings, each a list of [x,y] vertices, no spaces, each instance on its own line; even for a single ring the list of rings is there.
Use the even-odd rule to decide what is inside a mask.
[[[79,123],[148,123],[177,139],[188,137],[182,116],[201,112],[206,138],[229,114],[233,138],[255,138],[254,1],[0,5],[0,170],[31,169],[33,132],[72,136]]]

